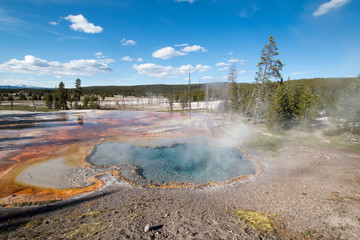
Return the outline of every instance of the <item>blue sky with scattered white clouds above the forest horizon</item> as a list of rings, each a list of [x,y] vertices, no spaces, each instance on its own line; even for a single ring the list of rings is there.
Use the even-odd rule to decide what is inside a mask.
[[[359,0],[1,0],[0,85],[254,82],[270,36],[284,80],[360,74]]]

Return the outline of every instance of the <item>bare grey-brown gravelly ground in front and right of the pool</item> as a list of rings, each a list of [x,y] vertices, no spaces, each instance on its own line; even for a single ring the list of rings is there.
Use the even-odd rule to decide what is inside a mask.
[[[153,189],[106,174],[88,194],[0,209],[0,239],[359,239],[359,144],[318,130],[255,130],[243,145],[263,167],[257,177]]]

